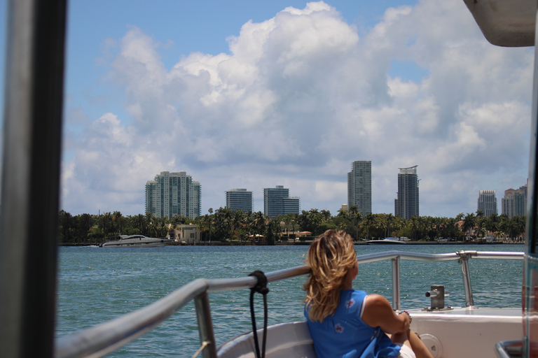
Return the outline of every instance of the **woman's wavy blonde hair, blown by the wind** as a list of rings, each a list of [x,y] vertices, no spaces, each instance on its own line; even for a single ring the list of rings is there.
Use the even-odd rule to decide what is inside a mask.
[[[323,322],[336,312],[345,275],[356,262],[352,238],[343,230],[327,230],[310,245],[305,263],[312,273],[304,285],[310,320]]]

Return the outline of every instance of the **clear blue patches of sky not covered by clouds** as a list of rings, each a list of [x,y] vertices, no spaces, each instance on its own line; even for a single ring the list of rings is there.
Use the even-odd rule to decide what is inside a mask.
[[[237,36],[249,20],[263,22],[288,6],[303,8],[305,1],[71,1],[67,39],[67,92],[72,106],[86,103],[94,115],[118,103],[101,101],[102,95],[117,99],[116,88],[102,85],[107,68],[102,65],[105,39],[118,39],[130,27],[138,27],[159,43],[160,60],[171,69],[191,52],[228,53],[228,36]],[[388,6],[414,1],[335,1],[346,22],[367,31]],[[113,52],[113,48],[108,48]],[[108,52],[107,52],[108,53]],[[394,71],[408,76],[422,72],[413,63],[394,64]],[[85,96],[76,96],[75,93]],[[88,103],[91,99],[95,102]],[[89,113],[88,113],[89,114]],[[123,113],[125,114],[125,113]],[[128,120],[128,115],[123,116]]]

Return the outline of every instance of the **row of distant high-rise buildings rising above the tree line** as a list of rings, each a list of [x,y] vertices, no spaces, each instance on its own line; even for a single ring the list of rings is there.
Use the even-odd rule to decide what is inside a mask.
[[[352,198],[352,186],[357,185],[354,180],[357,180],[357,178],[359,178],[360,180],[357,180],[357,182],[359,182],[358,186],[364,187],[364,184],[366,182],[366,187],[368,187],[368,179],[371,178],[372,174],[371,161],[354,161],[352,162],[351,167],[352,171],[347,173],[348,203],[343,204],[347,205],[347,208],[352,205],[357,205],[356,203],[350,203],[350,199]],[[398,185],[398,192],[396,192],[396,199],[394,199],[393,213],[395,216],[400,216],[406,219],[409,219],[412,216],[420,216],[418,188],[418,182],[420,180],[418,179],[417,175],[417,167],[418,166],[415,165],[408,168],[399,168],[398,180],[396,181]],[[356,176],[357,178],[354,178],[354,176]],[[172,182],[172,180],[176,181]],[[179,192],[179,187],[181,187],[181,183],[178,180],[183,180],[183,186],[189,187],[186,193]],[[170,188],[173,187],[173,195],[169,195],[169,189],[165,189],[165,185],[170,185]],[[159,195],[153,194],[156,192],[158,192]],[[265,215],[272,215],[272,217],[286,215],[288,213],[301,213],[301,210],[326,210],[324,208],[301,208],[300,198],[297,196],[289,196],[289,188],[284,188],[283,185],[277,185],[273,188],[263,188],[263,210],[255,210],[253,199],[254,196],[251,190],[247,190],[246,188],[233,188],[226,190],[225,194],[225,204],[222,206],[216,206],[214,208],[212,207],[213,210],[216,210],[218,208],[230,208],[231,210],[242,210],[243,212],[261,211]],[[369,195],[369,200],[371,201],[371,189],[369,192],[367,192],[366,195]],[[162,198],[166,198],[168,196],[170,196],[170,198],[172,199],[163,201]],[[272,199],[268,199],[269,196],[271,196]],[[364,194],[362,197],[364,199]],[[202,213],[200,205],[201,198],[202,196],[200,182],[192,180],[191,175],[187,175],[185,171],[161,171],[160,174],[155,176],[154,180],[148,180],[146,182],[146,209],[144,213],[151,213],[152,215],[155,215],[157,217],[166,216],[169,218],[172,218],[174,215],[181,215],[193,219],[195,217],[204,215],[204,213]],[[279,203],[275,204],[275,198],[278,199]],[[399,199],[401,200],[401,204],[399,204]],[[191,203],[193,203],[190,208],[188,205],[189,200],[191,201]],[[183,201],[183,206],[181,206],[181,201]],[[187,202],[187,205],[185,205],[185,202]],[[510,218],[514,215],[525,215],[526,203],[527,185],[522,185],[519,187],[519,189],[506,189],[504,190],[504,197],[502,198],[501,213],[508,215]],[[276,210],[275,205],[278,206]],[[343,206],[340,206],[338,210],[342,208]],[[331,211],[332,215],[338,215],[338,210],[329,211]],[[362,213],[361,210],[359,210],[359,207],[357,207],[357,210]],[[485,216],[489,216],[492,213],[499,215],[495,190],[479,191],[478,206],[476,210],[474,212],[467,213],[477,213],[478,210],[481,210]],[[366,211],[362,214],[366,215],[366,213],[371,213],[371,211]],[[448,217],[455,217],[456,215],[457,214],[451,216],[449,215]]]

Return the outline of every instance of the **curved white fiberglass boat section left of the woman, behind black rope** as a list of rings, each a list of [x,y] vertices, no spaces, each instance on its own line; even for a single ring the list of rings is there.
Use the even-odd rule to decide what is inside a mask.
[[[258,329],[258,342],[261,349],[263,329]],[[250,331],[237,336],[221,345],[216,352],[220,358],[256,358],[254,336]],[[267,328],[267,358],[316,358],[314,343],[306,322],[275,324]]]

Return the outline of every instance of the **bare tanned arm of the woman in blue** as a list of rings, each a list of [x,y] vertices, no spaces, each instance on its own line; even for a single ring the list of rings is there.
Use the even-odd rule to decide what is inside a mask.
[[[409,329],[411,317],[396,315],[389,301],[379,294],[368,294],[364,300],[362,320],[371,327],[381,327],[388,334],[403,333]]]

